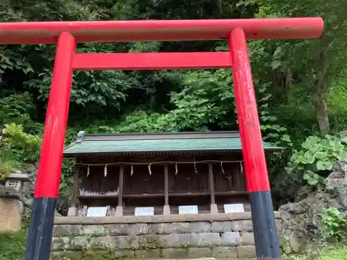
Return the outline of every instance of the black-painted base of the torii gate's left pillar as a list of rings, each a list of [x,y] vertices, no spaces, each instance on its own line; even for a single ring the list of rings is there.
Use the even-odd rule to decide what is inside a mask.
[[[25,260],[49,260],[57,198],[34,198]]]

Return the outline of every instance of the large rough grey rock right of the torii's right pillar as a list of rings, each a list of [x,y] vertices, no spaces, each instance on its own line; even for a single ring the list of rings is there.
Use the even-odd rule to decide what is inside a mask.
[[[319,214],[323,213],[323,209],[337,207],[347,211],[346,172],[346,162],[338,162],[335,171],[326,179],[324,191],[280,207],[280,239],[284,252],[303,252],[308,245],[319,243],[323,230]]]

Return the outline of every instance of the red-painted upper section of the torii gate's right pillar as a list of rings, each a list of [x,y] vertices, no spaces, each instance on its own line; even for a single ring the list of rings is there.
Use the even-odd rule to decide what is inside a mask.
[[[244,155],[247,190],[269,191],[262,133],[257,112],[257,101],[253,87],[251,64],[248,58],[246,35],[242,28],[236,28],[228,37],[232,58],[237,119]]]

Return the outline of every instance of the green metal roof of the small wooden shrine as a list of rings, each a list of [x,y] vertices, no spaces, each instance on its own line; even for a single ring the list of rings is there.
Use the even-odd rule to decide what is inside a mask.
[[[282,150],[263,142],[264,150]],[[185,153],[241,150],[238,132],[185,132],[163,134],[78,134],[77,141],[65,148],[73,155],[120,153]]]

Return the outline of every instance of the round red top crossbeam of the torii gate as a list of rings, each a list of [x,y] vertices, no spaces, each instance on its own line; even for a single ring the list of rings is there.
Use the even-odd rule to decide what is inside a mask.
[[[146,42],[226,39],[242,28],[247,39],[316,38],[323,19],[208,19],[143,21],[38,21],[0,23],[0,44],[56,44],[69,32],[76,42]]]

